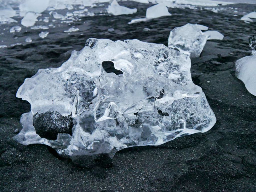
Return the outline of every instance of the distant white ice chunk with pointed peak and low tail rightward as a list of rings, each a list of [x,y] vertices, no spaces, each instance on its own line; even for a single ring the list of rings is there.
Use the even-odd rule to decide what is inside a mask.
[[[130,9],[128,7],[120,6],[116,0],[114,0],[107,8],[107,12],[112,15],[128,15],[137,12],[137,9]]]

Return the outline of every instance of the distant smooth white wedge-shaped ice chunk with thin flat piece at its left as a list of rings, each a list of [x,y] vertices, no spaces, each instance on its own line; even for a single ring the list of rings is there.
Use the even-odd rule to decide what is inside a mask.
[[[164,3],[159,3],[157,5],[154,5],[152,7],[147,8],[146,10],[146,18],[157,18],[157,17],[162,17],[162,16],[170,16],[168,12],[168,8]]]

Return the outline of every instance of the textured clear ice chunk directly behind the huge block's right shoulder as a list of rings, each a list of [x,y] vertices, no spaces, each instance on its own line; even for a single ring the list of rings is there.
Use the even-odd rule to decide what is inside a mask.
[[[186,24],[175,27],[169,35],[168,47],[178,49],[189,57],[199,57],[206,44],[208,35],[196,25]]]

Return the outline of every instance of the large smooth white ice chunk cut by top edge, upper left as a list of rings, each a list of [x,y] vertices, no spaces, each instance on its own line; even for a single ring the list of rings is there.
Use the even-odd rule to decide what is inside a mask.
[[[25,16],[27,12],[42,13],[47,9],[50,0],[35,1],[25,0],[19,5],[20,16]]]

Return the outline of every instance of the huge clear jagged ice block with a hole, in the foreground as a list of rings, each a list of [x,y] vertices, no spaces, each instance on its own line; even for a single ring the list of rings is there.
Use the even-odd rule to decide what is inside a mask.
[[[206,132],[216,118],[190,66],[189,57],[163,44],[88,39],[60,67],[25,79],[17,97],[31,111],[15,139],[71,157],[113,157],[123,148]]]

